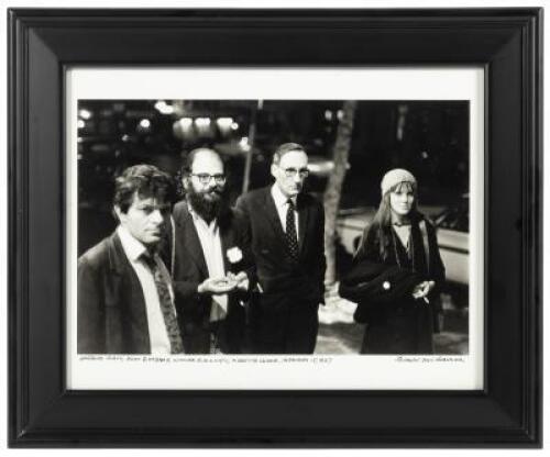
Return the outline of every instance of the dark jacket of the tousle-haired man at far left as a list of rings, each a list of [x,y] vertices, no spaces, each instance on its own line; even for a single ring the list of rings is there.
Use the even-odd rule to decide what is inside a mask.
[[[78,354],[150,354],[138,275],[114,232],[78,259]]]

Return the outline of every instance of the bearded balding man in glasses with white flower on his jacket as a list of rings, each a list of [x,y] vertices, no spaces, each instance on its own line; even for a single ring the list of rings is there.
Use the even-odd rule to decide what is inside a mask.
[[[228,203],[223,161],[212,149],[194,149],[182,180],[186,199],[174,207],[168,250],[185,352],[238,354],[252,269],[242,223]]]

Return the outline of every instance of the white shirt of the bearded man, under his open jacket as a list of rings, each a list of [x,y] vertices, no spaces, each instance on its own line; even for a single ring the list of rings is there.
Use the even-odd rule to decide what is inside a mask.
[[[202,247],[202,254],[208,268],[208,276],[209,278],[223,278],[226,276],[226,266],[223,265],[223,249],[221,246],[218,221],[215,219],[210,224],[207,224],[207,222],[193,210],[190,204],[188,208],[193,216],[193,223],[199,235],[200,246]],[[224,319],[227,313],[228,294],[212,296],[210,321],[213,322]]]

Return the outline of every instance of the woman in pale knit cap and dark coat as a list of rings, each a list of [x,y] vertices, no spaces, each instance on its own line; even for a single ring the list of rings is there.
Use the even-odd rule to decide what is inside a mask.
[[[409,171],[388,171],[381,188],[378,211],[354,257],[355,279],[363,275],[354,282],[355,320],[367,324],[361,352],[432,354],[444,281],[436,230],[418,212]]]

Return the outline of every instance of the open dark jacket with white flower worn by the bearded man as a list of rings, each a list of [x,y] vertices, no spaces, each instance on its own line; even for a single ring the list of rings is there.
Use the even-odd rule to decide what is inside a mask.
[[[174,230],[167,232],[167,244],[172,246],[165,249],[174,259],[172,266],[174,291],[176,294],[176,309],[184,333],[193,333],[196,326],[206,328],[210,320],[211,297],[199,294],[198,286],[209,277],[208,267],[200,245],[197,228],[193,222],[186,201],[176,203],[173,211]],[[251,256],[243,245],[243,223],[232,210],[218,219],[220,239],[222,246],[223,264],[226,271],[245,271],[249,275],[250,287],[254,285],[253,268],[251,268]],[[175,236],[175,242],[172,236]],[[173,243],[174,242],[174,243]],[[242,253],[239,261],[231,263],[228,258],[228,249],[238,247]],[[165,256],[167,257],[167,256]],[[167,259],[168,265],[170,264]],[[228,315],[226,321],[235,321],[237,325],[244,325],[244,312],[239,303],[246,300],[246,292],[233,292],[229,294]]]

